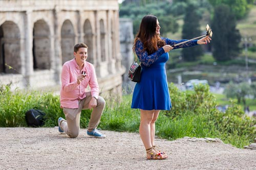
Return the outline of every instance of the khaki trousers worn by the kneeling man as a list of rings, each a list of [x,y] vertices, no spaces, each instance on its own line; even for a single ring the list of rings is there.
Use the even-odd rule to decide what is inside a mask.
[[[80,115],[84,109],[89,109],[89,102],[91,101],[91,92],[86,93],[86,98],[80,100],[77,109],[63,108],[63,112],[66,116],[66,121],[63,120],[60,123],[61,129],[63,129],[67,135],[71,138],[75,138],[79,134],[80,130]],[[105,100],[98,96],[97,106],[93,108],[91,118],[88,126],[88,130],[91,131],[99,125],[103,109],[105,107]]]

